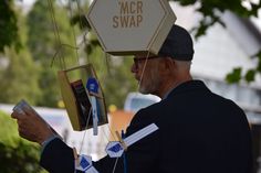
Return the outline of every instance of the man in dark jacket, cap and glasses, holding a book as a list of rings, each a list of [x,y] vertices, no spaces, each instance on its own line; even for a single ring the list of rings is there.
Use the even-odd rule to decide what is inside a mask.
[[[155,123],[158,130],[127,148],[125,160],[93,163],[101,173],[250,173],[251,137],[244,112],[190,75],[192,40],[174,25],[158,55],[136,55],[132,72],[139,91],[163,100],[139,110],[126,137]],[[27,110],[25,110],[27,111]],[[21,137],[44,144],[40,164],[52,173],[73,173],[73,150],[53,137],[33,113],[12,113]]]

